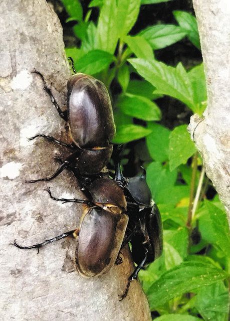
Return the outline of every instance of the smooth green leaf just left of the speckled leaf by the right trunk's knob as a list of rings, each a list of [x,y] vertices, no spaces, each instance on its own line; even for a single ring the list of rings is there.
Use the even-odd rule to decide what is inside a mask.
[[[167,161],[170,130],[153,122],[148,123],[148,128],[152,130],[151,134],[149,134],[146,138],[151,157],[154,159],[154,161]]]

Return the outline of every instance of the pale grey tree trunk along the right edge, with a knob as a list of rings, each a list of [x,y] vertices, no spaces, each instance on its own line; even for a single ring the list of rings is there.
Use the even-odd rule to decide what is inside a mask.
[[[230,225],[230,5],[193,0],[205,68],[208,106],[191,117],[189,132],[205,171],[224,204]]]

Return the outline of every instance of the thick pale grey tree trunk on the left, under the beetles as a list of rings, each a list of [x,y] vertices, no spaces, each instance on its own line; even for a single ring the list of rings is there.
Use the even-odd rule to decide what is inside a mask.
[[[65,60],[60,22],[44,0],[4,1],[1,11],[1,282],[0,319],[27,320],[150,320],[149,307],[138,282],[122,302],[118,294],[133,270],[128,250],[123,264],[105,276],[85,279],[73,258],[74,239],[54,242],[40,250],[20,250],[14,239],[32,245],[72,230],[81,205],[60,204],[49,198],[82,196],[76,180],[65,171],[49,184],[26,184],[57,168],[53,157],[68,150],[37,133],[67,139],[65,122],[43,90],[33,68],[42,72],[60,102],[65,104],[71,73]]]

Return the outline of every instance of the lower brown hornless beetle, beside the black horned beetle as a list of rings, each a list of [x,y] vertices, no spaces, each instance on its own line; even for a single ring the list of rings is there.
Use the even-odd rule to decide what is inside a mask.
[[[49,189],[47,191],[56,201],[84,204],[79,227],[32,246],[21,246],[16,241],[14,245],[20,249],[39,250],[48,243],[74,236],[77,240],[75,258],[78,272],[85,277],[107,273],[119,258],[128,224],[123,190],[112,179],[100,177],[88,188],[89,200],[58,199]]]

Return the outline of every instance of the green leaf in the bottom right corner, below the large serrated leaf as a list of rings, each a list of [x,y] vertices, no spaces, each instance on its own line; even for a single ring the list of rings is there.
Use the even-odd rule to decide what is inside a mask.
[[[227,320],[229,294],[223,282],[202,287],[197,293],[195,307],[205,321]]]

